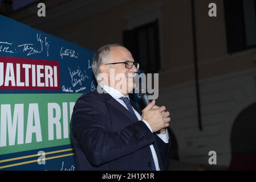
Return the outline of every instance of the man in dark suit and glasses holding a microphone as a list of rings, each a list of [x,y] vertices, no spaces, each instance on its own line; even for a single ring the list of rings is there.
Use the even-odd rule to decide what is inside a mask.
[[[83,94],[74,106],[70,129],[76,169],[167,169],[169,112],[156,106],[155,100],[141,112],[129,100],[137,68],[131,52],[118,44],[96,52],[93,71],[104,92]]]

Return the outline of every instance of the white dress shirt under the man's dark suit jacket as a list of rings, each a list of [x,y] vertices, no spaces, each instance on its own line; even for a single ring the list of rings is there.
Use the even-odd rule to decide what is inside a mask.
[[[119,98],[120,97],[127,97],[129,99],[129,96],[124,96],[121,92],[119,92],[119,90],[116,90],[114,88],[111,88],[110,86],[108,85],[100,85],[101,88],[103,88],[109,95],[111,95],[113,98],[115,98],[115,100],[117,102],[119,102],[121,105],[123,105],[127,110],[127,106],[125,105],[124,101],[123,100],[120,100]],[[135,112],[137,118],[139,119],[139,121],[141,121],[141,115],[132,107],[133,111]],[[149,128],[149,130],[151,130],[151,132],[153,133],[152,129],[151,129],[151,126],[149,125],[149,123],[145,120],[142,120]],[[166,130],[166,134],[157,134],[161,139],[162,141],[164,141],[165,143],[168,143],[169,142],[169,135],[168,135],[168,131]],[[153,156],[153,160],[154,160],[154,163],[155,163],[155,166],[156,166],[156,171],[160,171],[160,168],[159,168],[159,160],[157,158],[157,154],[156,154],[156,150],[155,150],[155,147],[153,146],[153,144],[151,144],[150,146],[150,149],[151,149],[151,152],[152,152],[152,156]]]

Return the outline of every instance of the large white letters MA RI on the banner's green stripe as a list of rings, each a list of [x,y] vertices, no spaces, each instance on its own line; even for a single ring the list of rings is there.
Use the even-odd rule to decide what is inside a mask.
[[[48,110],[46,116],[48,123],[42,125],[38,103],[30,103],[27,106],[25,104],[0,105],[0,147],[42,142],[43,139],[69,138],[69,125],[74,106],[75,102],[63,102],[62,105],[48,103],[46,109]],[[27,121],[24,121],[25,108],[28,108]],[[68,114],[70,118],[68,118]],[[48,138],[42,137],[42,127],[47,127]]]

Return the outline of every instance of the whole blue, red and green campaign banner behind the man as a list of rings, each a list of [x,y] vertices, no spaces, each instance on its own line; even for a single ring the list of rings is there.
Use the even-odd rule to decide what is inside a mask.
[[[94,52],[0,15],[0,169],[74,170],[70,118]]]

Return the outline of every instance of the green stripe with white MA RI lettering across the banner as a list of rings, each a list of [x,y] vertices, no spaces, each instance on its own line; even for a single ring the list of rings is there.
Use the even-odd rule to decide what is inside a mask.
[[[0,94],[0,155],[70,144],[78,94]]]

